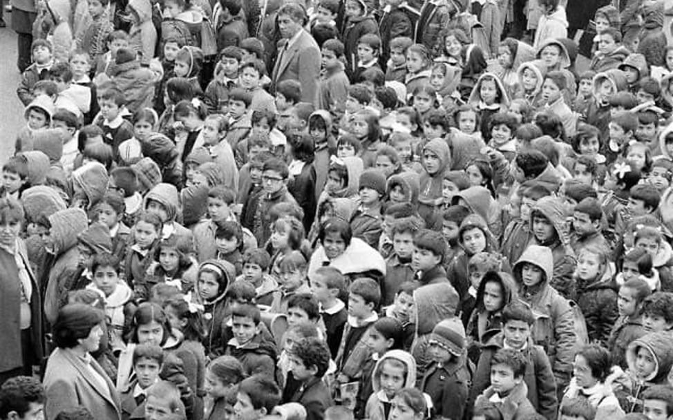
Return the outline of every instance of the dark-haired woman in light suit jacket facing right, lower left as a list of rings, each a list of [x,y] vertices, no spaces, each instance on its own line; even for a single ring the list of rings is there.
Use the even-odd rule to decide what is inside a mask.
[[[53,420],[62,410],[80,406],[97,420],[121,419],[115,385],[89,354],[98,350],[103,321],[103,312],[83,303],[59,310],[54,324],[57,349],[49,356],[43,381],[47,420]]]

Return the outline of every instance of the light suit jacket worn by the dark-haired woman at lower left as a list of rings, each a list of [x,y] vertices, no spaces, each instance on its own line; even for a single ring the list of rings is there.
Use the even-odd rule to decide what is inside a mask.
[[[59,412],[86,407],[96,420],[120,420],[120,397],[115,385],[97,361],[91,359],[93,370],[105,380],[109,392],[99,388],[99,381],[91,374],[86,363],[73,352],[57,348],[49,356],[42,381],[47,402],[44,411],[47,420],[53,420]]]

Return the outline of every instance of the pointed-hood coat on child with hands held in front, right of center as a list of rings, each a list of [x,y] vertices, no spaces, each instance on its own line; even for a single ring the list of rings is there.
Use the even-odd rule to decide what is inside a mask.
[[[426,225],[433,225],[432,216],[437,207],[444,202],[442,198],[442,180],[444,171],[451,168],[451,153],[444,140],[430,140],[424,148],[435,153],[439,157],[439,168],[435,173],[423,171],[420,178],[420,193],[418,195],[418,213],[426,221]]]

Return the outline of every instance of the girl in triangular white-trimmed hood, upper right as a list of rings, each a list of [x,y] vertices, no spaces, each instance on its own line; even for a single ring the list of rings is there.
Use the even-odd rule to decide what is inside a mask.
[[[495,113],[504,113],[509,108],[509,97],[500,79],[493,73],[484,73],[472,89],[468,104],[477,108],[482,138],[488,142],[491,140],[491,117]]]

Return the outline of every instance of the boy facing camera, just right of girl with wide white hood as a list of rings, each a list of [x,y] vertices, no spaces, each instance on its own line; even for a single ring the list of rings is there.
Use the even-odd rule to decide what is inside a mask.
[[[418,224],[409,218],[401,218],[393,222],[392,247],[393,253],[386,259],[386,278],[381,285],[381,305],[388,306],[395,300],[402,283],[411,281],[415,271],[411,267],[414,252],[414,236]]]

